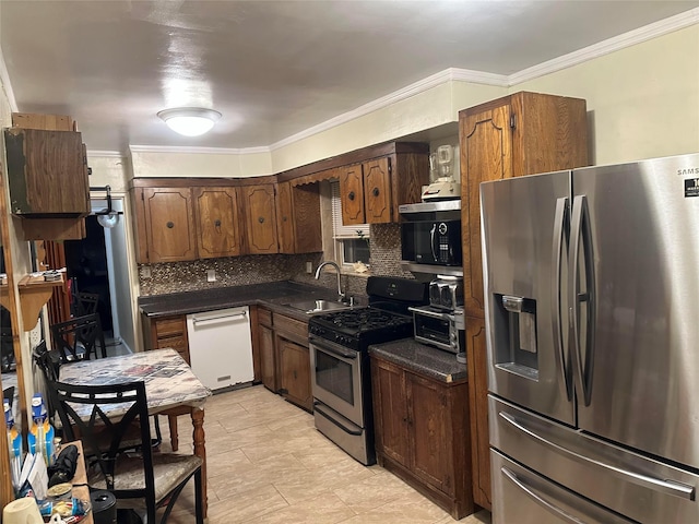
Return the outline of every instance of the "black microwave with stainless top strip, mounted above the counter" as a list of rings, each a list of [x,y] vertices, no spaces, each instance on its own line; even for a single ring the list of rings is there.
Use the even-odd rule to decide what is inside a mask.
[[[403,204],[399,212],[403,265],[463,266],[461,200]]]

